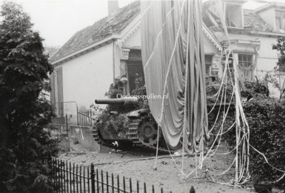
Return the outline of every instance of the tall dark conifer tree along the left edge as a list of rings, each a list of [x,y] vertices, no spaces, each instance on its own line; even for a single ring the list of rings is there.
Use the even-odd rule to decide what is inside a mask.
[[[5,2],[0,14],[0,190],[49,192],[44,161],[56,144],[43,129],[52,112],[42,91],[53,68],[21,5]]]

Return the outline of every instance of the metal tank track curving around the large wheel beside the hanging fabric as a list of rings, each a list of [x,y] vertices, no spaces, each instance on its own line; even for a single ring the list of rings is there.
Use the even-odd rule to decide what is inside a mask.
[[[129,123],[129,132],[127,133],[127,136],[129,140],[131,140],[136,146],[143,148],[143,149],[149,149],[150,151],[156,151],[156,144],[151,146],[148,144],[144,144],[143,142],[140,142],[140,139],[138,138],[138,125],[140,125],[141,119],[132,119]],[[160,139],[162,140],[162,136],[160,136]],[[173,150],[168,150],[166,147],[158,146],[158,152],[159,153],[174,153]]]

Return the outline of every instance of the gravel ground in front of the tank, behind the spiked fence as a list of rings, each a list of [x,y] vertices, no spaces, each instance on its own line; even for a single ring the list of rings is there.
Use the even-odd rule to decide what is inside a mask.
[[[147,187],[154,185],[156,190],[163,187],[166,192],[189,192],[191,185],[196,192],[254,192],[251,185],[247,188],[235,188],[230,185],[230,179],[234,179],[234,168],[230,169],[225,175],[217,175],[232,164],[234,155],[214,155],[206,159],[203,170],[197,171],[198,179],[194,179],[195,172],[190,178],[185,179],[180,174],[178,168],[182,168],[182,157],[175,157],[177,166],[169,155],[159,155],[157,170],[153,170],[155,164],[155,154],[143,150],[132,152],[114,152],[112,149],[103,148],[102,151],[86,151],[80,144],[72,145],[70,153],[63,153],[60,159],[90,166],[91,163],[99,170],[113,172],[114,175],[123,175],[127,179],[144,181]],[[188,173],[195,169],[195,157],[184,157],[184,172]],[[214,178],[219,183],[212,181]]]

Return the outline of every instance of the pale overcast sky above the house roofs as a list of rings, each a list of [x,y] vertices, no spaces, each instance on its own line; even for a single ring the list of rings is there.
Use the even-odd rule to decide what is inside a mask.
[[[0,5],[5,0],[0,0]],[[10,0],[11,1],[11,0]],[[12,0],[23,6],[31,16],[34,29],[45,38],[45,46],[61,46],[80,29],[92,25],[108,15],[108,0]],[[119,0],[119,7],[134,0]],[[269,0],[272,1],[272,0]],[[275,0],[284,2],[284,0]],[[259,3],[258,3],[259,2]],[[251,0],[244,8],[255,9],[264,5]],[[284,2],[285,3],[285,2]]]

